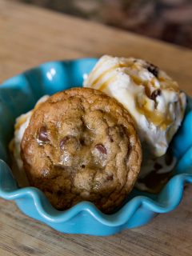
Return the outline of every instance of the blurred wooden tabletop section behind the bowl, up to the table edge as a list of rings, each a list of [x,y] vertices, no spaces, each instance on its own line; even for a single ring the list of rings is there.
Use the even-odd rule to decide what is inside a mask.
[[[14,1],[0,1],[0,82],[51,60],[113,54],[145,58],[192,94],[192,51]]]

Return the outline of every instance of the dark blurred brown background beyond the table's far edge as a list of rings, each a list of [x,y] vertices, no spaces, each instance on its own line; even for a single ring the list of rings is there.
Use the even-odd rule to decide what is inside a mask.
[[[15,0],[192,49],[192,0]]]

